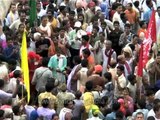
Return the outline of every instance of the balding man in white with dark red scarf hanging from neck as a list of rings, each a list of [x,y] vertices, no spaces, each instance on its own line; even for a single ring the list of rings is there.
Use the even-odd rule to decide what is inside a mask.
[[[107,40],[106,41],[106,47],[102,49],[102,60],[103,60],[103,71],[102,75],[107,72],[107,69],[109,68],[110,62],[112,59],[116,60],[117,59],[117,54],[116,52],[111,48],[112,47],[112,42]]]

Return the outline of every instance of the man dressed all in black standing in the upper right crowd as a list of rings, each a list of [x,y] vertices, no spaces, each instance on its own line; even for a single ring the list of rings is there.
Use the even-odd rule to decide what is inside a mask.
[[[117,55],[120,55],[122,48],[119,46],[118,43],[119,43],[119,38],[123,32],[120,30],[119,21],[114,21],[113,25],[114,25],[114,30],[109,33],[108,39],[112,41],[112,48],[115,50]]]

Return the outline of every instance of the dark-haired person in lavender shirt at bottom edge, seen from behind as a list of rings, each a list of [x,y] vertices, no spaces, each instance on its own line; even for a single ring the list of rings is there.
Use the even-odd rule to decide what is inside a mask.
[[[38,107],[37,109],[38,116],[46,120],[52,120],[52,116],[56,113],[56,111],[49,108],[49,99],[43,99],[41,104],[42,107]]]

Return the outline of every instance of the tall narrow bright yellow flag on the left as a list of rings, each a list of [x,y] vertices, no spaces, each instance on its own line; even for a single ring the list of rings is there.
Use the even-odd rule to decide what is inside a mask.
[[[24,85],[27,90],[27,100],[30,100],[30,81],[29,81],[29,68],[28,68],[28,52],[26,32],[23,33],[22,46],[21,46],[21,68],[23,72]]]

